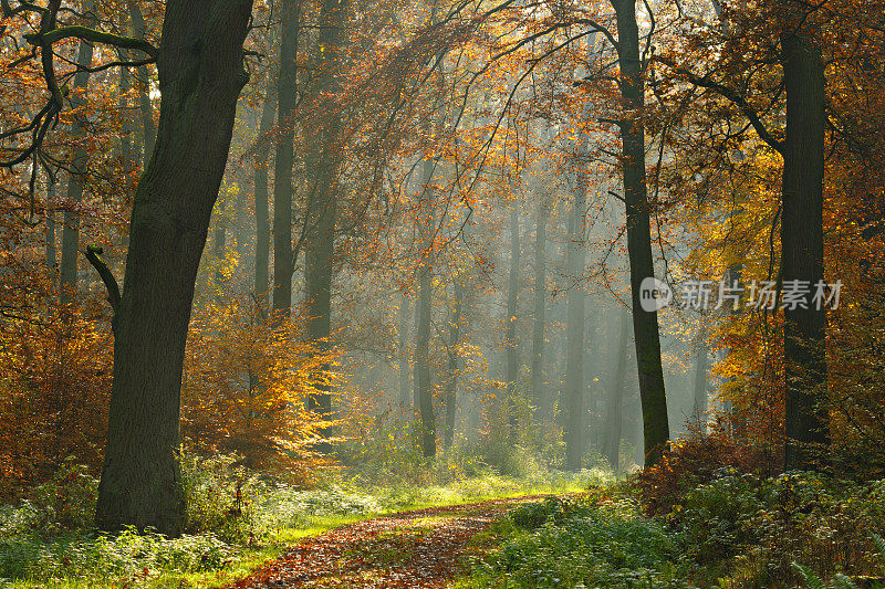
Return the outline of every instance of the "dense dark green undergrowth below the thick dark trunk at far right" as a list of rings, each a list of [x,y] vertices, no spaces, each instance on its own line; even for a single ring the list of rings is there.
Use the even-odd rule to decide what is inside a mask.
[[[793,561],[821,578],[881,572],[872,538],[883,533],[884,516],[885,482],[726,471],[663,519],[678,532],[685,558],[708,567],[710,579],[791,587],[801,581]]]

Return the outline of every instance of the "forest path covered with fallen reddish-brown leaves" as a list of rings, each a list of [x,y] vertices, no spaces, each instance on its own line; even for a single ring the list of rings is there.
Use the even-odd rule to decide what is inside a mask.
[[[342,526],[305,539],[230,587],[446,587],[464,557],[482,550],[470,538],[514,507],[548,496],[430,507]]]

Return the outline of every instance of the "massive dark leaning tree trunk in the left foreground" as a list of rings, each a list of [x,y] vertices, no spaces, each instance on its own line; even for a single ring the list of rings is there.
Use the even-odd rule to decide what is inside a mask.
[[[175,453],[194,284],[248,80],[249,0],[169,0],[157,70],[157,143],[133,204],[114,323],[114,385],[96,523],[177,535]]]

